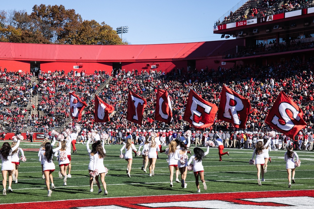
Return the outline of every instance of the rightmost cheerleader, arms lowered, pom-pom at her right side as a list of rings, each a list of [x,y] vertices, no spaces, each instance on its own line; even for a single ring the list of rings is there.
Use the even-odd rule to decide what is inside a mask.
[[[296,159],[295,159],[296,158]],[[295,176],[295,162],[299,161],[299,156],[296,152],[293,151],[293,146],[289,145],[287,148],[287,152],[284,153],[284,161],[286,161],[286,169],[288,173],[288,188],[291,188],[291,181],[292,184],[295,183],[294,176]],[[292,179],[291,179],[291,170],[292,170]]]

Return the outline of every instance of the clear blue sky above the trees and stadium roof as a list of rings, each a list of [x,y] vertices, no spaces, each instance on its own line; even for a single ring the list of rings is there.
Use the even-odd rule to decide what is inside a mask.
[[[83,19],[104,21],[113,29],[128,26],[129,33],[122,36],[130,44],[164,44],[221,40],[221,35],[213,34],[214,22],[239,1],[11,0],[2,1],[1,10],[26,10],[30,14],[35,4],[62,4],[75,9]]]

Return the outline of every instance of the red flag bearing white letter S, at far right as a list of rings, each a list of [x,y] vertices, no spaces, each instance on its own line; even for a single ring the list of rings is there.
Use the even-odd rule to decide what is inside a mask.
[[[265,120],[269,126],[290,138],[306,126],[303,111],[285,93],[281,91]]]

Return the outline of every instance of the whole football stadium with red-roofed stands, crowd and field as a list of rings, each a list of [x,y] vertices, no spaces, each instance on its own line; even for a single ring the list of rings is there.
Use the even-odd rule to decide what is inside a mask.
[[[0,207],[312,207],[314,1],[244,1],[213,33],[222,40],[0,42],[1,167],[11,174]],[[99,159],[100,182],[103,167],[89,167]]]

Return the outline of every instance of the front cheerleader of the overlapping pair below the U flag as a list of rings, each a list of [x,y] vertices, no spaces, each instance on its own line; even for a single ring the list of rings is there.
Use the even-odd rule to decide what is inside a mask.
[[[95,142],[95,143],[97,143],[97,142]],[[101,180],[102,186],[104,187],[104,190],[105,190],[104,195],[108,195],[107,185],[106,185],[106,182],[105,182],[105,175],[106,175],[106,173],[108,171],[106,171],[106,167],[104,166],[104,157],[105,157],[105,154],[106,154],[106,150],[104,148],[104,144],[105,144],[105,141],[103,141],[102,144],[98,144],[96,146],[97,153],[94,154],[93,170],[94,171],[98,170],[98,173],[99,173],[99,175],[95,176],[96,184],[98,186],[98,194],[100,194],[102,192],[102,190],[100,188],[100,183],[99,183],[99,176],[100,176],[100,180]],[[132,157],[132,152],[131,152],[131,157]],[[131,166],[130,166],[130,169],[131,169]]]

